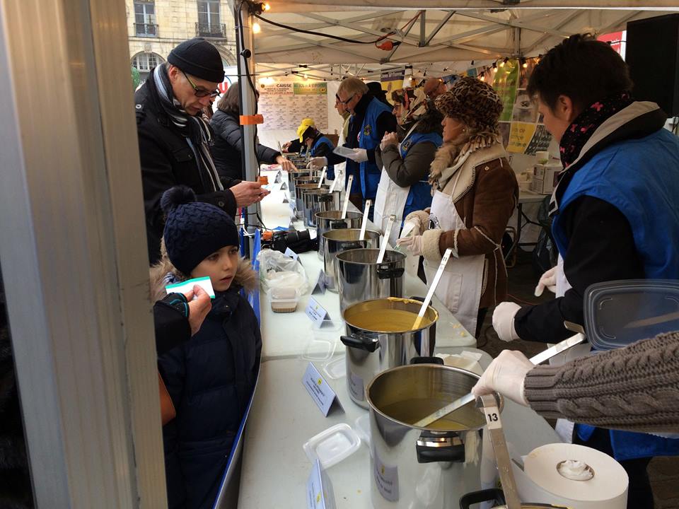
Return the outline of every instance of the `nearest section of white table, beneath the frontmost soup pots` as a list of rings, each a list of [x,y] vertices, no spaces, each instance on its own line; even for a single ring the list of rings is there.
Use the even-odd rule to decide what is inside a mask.
[[[453,348],[448,353],[477,351]],[[491,361],[482,353],[481,365]],[[302,450],[309,438],[337,423],[354,421],[367,411],[354,404],[344,378],[326,378],[337,392],[344,412],[334,409],[323,417],[304,389],[301,380],[308,361],[296,358],[274,359],[262,363],[253,408],[246,430],[246,446],[240,475],[240,509],[299,509],[306,507],[306,481],[311,462]],[[317,365],[320,370],[321,366]],[[525,455],[559,438],[533,410],[511,401],[505,402],[502,422],[507,441]],[[361,448],[327,469],[335,491],[337,509],[371,509],[370,457]]]

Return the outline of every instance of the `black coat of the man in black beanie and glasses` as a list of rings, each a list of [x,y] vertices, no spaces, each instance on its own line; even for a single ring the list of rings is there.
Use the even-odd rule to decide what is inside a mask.
[[[209,177],[202,175],[195,155],[161,106],[152,80],[134,94],[139,137],[139,163],[141,185],[144,187],[146,212],[146,240],[149,244],[149,263],[161,257],[161,238],[165,217],[161,197],[170,187],[186,185],[194,190],[199,201],[218,206],[233,217],[236,215],[236,198],[226,189],[238,180],[221,179],[224,190],[214,189]]]

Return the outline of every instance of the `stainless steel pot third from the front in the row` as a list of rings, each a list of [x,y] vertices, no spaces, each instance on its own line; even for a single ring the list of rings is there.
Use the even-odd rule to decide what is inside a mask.
[[[337,283],[340,311],[364,300],[403,296],[405,254],[385,251],[377,263],[380,250],[358,249],[337,254]]]

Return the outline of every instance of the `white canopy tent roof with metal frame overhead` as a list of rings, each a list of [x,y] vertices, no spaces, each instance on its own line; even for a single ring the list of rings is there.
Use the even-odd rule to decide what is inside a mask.
[[[332,79],[345,74],[379,78],[405,64],[430,76],[464,71],[504,57],[536,57],[564,37],[624,30],[628,21],[679,11],[679,1],[655,0],[323,0],[272,1],[255,35],[260,76],[305,73]],[[300,33],[267,21],[323,35]],[[373,41],[388,35],[390,50]],[[344,37],[352,42],[335,40]]]

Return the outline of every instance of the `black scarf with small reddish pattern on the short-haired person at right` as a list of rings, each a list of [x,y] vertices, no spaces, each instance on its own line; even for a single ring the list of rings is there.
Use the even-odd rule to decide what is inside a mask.
[[[569,125],[559,143],[559,153],[564,169],[578,158],[588,139],[603,122],[631,104],[632,94],[625,91],[586,107]]]

